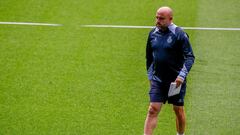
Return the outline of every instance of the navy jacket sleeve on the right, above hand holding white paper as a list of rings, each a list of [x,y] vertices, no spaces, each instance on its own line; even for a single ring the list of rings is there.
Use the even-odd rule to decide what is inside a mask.
[[[183,64],[183,68],[179,72],[178,77],[180,77],[183,80],[185,80],[185,78],[187,77],[187,74],[191,70],[191,67],[192,67],[192,65],[194,63],[195,56],[193,54],[193,50],[192,50],[191,44],[189,42],[188,35],[185,32],[183,32],[183,31],[182,31],[182,33],[180,35],[180,40],[181,40],[181,43],[182,43],[184,64]]]

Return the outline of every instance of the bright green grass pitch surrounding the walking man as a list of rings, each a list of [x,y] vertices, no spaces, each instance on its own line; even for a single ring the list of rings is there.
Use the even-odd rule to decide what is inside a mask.
[[[238,0],[2,0],[1,135],[141,135],[149,104],[145,45],[158,7],[186,27],[240,27]],[[196,56],[188,76],[187,135],[240,134],[240,32],[186,30]],[[174,135],[165,105],[155,135]]]

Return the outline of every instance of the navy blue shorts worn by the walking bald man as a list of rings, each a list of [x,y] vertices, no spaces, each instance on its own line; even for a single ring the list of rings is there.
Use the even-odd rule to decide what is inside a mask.
[[[151,87],[149,91],[150,102],[162,102],[165,104],[166,101],[168,101],[169,104],[184,106],[186,82],[183,82],[180,93],[172,97],[168,97],[169,87],[170,83],[162,83],[151,80]]]

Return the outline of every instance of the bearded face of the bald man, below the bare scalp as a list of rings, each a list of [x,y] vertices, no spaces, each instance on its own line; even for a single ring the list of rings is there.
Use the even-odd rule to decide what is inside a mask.
[[[165,12],[156,13],[156,26],[162,29],[167,28],[172,22],[172,17]]]

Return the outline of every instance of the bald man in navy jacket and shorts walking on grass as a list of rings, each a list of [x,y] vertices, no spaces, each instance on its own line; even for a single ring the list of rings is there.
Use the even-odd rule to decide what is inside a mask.
[[[156,13],[156,27],[149,33],[146,47],[146,65],[150,80],[150,105],[145,121],[144,135],[152,135],[162,104],[173,104],[177,135],[184,135],[184,96],[186,76],[194,63],[188,35],[173,24],[173,12],[161,7]],[[180,93],[168,97],[171,82],[181,86]]]

